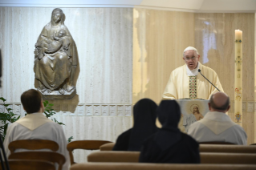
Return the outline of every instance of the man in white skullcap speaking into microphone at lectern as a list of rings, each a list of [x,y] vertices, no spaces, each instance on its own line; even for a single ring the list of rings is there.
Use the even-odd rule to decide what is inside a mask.
[[[198,62],[200,55],[196,48],[187,47],[183,52],[183,59],[185,65],[172,71],[163,99],[209,99],[217,89],[199,74],[198,69],[220,91],[223,91],[216,72]]]

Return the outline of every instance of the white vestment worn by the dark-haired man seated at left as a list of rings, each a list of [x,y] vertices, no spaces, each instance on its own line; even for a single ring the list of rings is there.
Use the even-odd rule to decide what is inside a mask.
[[[27,114],[22,119],[12,123],[6,132],[4,140],[4,148],[6,156],[10,156],[8,145],[14,140],[53,140],[59,144],[59,150],[66,158],[66,163],[63,164],[63,170],[67,170],[70,165],[70,158],[67,151],[67,139],[63,132],[63,127],[58,123],[52,122],[47,119],[43,113]],[[24,149],[17,149],[15,152],[28,151]],[[42,150],[39,150],[42,151]],[[45,151],[45,149],[43,149]]]

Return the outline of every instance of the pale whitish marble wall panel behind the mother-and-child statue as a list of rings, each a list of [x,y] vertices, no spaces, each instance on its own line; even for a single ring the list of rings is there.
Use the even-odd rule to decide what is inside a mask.
[[[1,7],[2,94],[35,88],[35,42],[54,8]],[[80,63],[77,94],[60,103],[132,103],[132,8],[62,8]]]

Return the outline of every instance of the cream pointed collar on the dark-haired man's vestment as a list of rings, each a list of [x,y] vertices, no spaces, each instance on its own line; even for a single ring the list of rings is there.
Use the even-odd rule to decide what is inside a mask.
[[[45,123],[52,122],[51,119],[48,119],[43,113],[31,113],[27,114],[22,119],[18,119],[17,123],[21,124],[23,127],[30,129],[30,131],[34,131],[37,127],[42,126]]]

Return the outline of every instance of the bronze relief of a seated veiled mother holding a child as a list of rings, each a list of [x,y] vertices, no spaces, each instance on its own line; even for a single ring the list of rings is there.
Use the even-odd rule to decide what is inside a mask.
[[[71,99],[76,94],[79,58],[64,20],[63,10],[53,10],[35,44],[35,79],[43,99]]]

